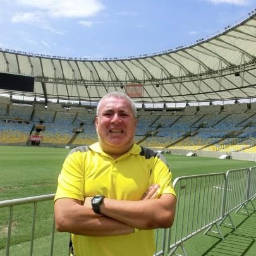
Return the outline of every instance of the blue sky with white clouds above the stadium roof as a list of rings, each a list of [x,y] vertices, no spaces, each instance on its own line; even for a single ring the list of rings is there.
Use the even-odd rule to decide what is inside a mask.
[[[151,54],[222,32],[255,0],[1,0],[0,47],[77,58]]]

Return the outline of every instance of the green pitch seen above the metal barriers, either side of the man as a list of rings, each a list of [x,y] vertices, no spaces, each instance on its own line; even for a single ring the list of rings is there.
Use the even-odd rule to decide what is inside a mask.
[[[0,146],[0,200],[55,193],[58,174],[69,149]],[[179,176],[219,173],[255,166],[255,162],[165,155]]]

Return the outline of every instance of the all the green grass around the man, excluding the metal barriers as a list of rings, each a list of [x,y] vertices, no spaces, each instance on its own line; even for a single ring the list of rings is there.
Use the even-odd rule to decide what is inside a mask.
[[[69,151],[70,150],[68,149],[41,147],[1,146],[0,201],[55,193],[58,174],[61,170],[64,158]],[[214,159],[207,157],[185,157],[180,155],[165,155],[165,157],[171,167],[173,180],[179,176],[226,173],[226,171],[230,169],[256,166],[255,162],[250,161]],[[51,237],[52,202],[45,202],[39,209],[37,209],[37,212],[40,212],[40,215],[37,217],[35,233],[35,237],[37,238],[35,243],[38,244],[38,246],[35,247],[34,255],[49,255],[44,247],[47,247],[47,241],[50,240]],[[28,241],[30,241],[31,214],[32,210],[28,210],[28,208],[23,205],[19,206],[18,210],[15,210],[15,221],[13,222],[13,233],[11,236],[11,256],[28,255],[27,250],[30,246]],[[4,255],[7,219],[8,209],[0,209],[0,256]],[[234,220],[236,225],[243,224],[244,226],[246,224],[249,228],[253,227],[254,224],[254,229],[248,229],[248,232],[251,232],[252,235],[238,234],[236,236],[244,241],[243,245],[240,245],[238,241],[234,242],[232,239],[230,244],[223,244],[218,236],[205,236],[200,233],[185,242],[188,255],[255,255],[255,253],[253,253],[256,251],[254,243],[256,237],[255,214],[250,218],[247,218],[244,214],[234,214]],[[250,222],[252,223],[250,224]],[[223,231],[227,238],[235,236],[235,232],[230,233],[230,228],[224,227]],[[236,232],[238,232],[238,230]],[[65,255],[63,247],[66,247],[67,236],[65,234],[58,234],[56,241],[59,244],[59,249],[54,252],[54,255]],[[232,243],[235,244],[231,245]],[[223,253],[226,248],[229,248],[230,246],[234,248],[236,245],[238,245],[236,253],[228,254],[228,250],[226,254]],[[246,248],[243,248],[245,245],[247,245]]]

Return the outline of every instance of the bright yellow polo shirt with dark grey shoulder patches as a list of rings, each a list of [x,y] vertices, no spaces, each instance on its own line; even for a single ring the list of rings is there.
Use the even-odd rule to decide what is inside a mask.
[[[118,200],[140,200],[150,185],[159,184],[163,193],[175,195],[171,172],[161,154],[137,144],[113,159],[99,143],[71,150],[58,179],[56,197],[75,198],[105,195]],[[120,236],[72,235],[76,256],[152,256],[154,230]]]

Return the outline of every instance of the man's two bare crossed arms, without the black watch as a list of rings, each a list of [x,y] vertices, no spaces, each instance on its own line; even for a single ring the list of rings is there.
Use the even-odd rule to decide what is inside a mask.
[[[152,185],[141,200],[104,198],[101,214],[95,214],[90,203],[59,198],[54,204],[56,228],[86,236],[125,235],[138,229],[169,228],[174,221],[176,197],[170,193],[157,197],[158,185]]]

